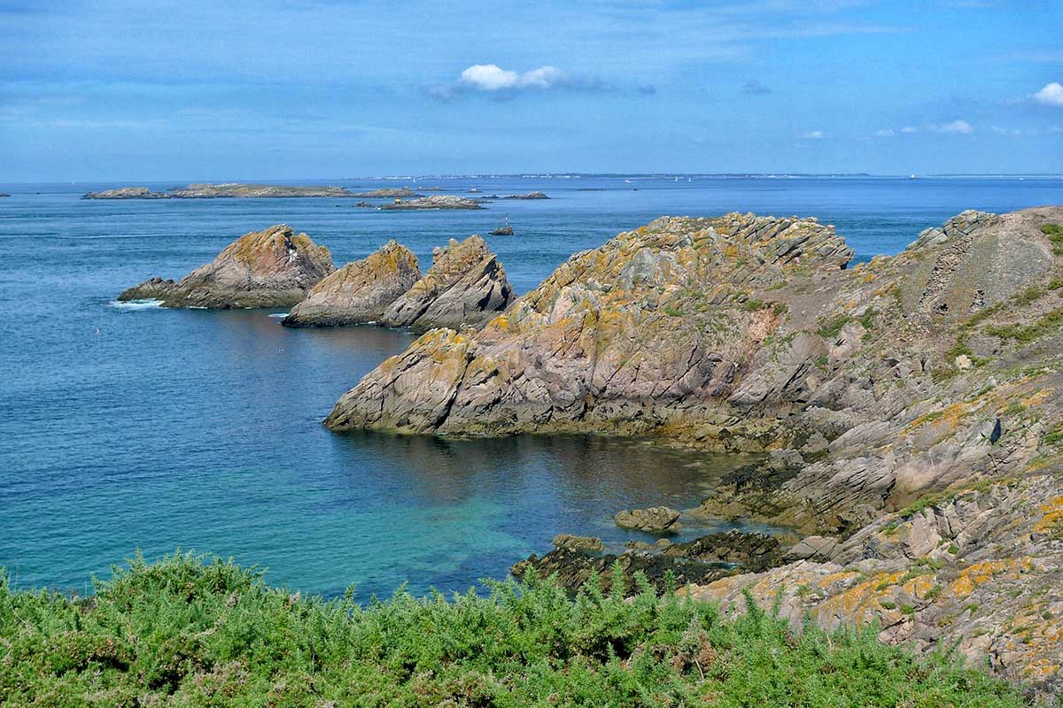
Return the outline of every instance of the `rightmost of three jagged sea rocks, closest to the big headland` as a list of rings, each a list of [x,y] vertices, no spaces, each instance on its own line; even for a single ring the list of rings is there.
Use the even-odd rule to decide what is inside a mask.
[[[388,307],[381,324],[411,327],[476,327],[513,300],[513,289],[499,259],[478,236],[432,253],[432,267]]]

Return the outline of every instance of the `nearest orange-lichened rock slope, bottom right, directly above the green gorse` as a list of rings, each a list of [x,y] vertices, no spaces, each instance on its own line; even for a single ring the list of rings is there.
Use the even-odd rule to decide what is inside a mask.
[[[877,622],[879,639],[958,651],[1046,693],[1063,690],[1063,483],[1035,474],[876,520],[820,557],[684,590],[745,610],[744,593],[800,631]]]

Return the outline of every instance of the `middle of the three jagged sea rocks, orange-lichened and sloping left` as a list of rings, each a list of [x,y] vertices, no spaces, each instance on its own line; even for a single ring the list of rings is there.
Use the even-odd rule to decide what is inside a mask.
[[[417,256],[389,241],[368,258],[348,263],[314,286],[282,324],[335,327],[376,322],[420,278]]]

